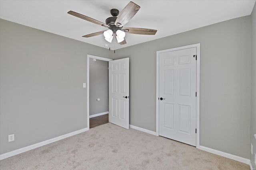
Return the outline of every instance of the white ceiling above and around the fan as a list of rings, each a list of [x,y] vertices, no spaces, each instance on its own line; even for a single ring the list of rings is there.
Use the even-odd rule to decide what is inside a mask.
[[[251,14],[255,0],[133,0],[138,13],[124,27],[157,29],[156,35],[126,33],[126,45],[104,35],[83,35],[106,28],[67,14],[72,10],[105,23],[110,10],[120,12],[130,0],[1,0],[0,18],[100,47],[120,49]],[[105,47],[104,47],[105,48]],[[108,48],[108,47],[107,47]]]

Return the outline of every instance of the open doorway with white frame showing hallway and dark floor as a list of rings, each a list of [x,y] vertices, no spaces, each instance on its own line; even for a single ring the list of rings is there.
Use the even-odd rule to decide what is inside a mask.
[[[108,62],[109,61],[112,61],[112,59],[107,59],[107,58],[93,56],[93,55],[87,55],[87,125],[88,125],[88,129],[108,123]]]

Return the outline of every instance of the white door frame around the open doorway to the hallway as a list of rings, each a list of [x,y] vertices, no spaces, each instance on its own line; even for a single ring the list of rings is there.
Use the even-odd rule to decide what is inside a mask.
[[[108,58],[104,58],[104,57],[98,57],[98,56],[94,56],[94,55],[87,55],[87,128],[88,130],[90,129],[90,110],[89,110],[89,102],[90,102],[90,99],[89,99],[89,68],[90,68],[90,58],[91,59],[96,59],[96,60],[102,60],[102,61],[112,61],[112,59],[108,59]],[[109,107],[108,107],[109,109]],[[108,110],[109,111],[109,110]]]

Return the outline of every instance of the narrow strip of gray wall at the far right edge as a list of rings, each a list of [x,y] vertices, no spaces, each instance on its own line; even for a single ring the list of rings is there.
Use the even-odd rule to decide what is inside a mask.
[[[254,153],[256,153],[256,5],[252,11],[252,96],[251,96],[251,143],[253,154],[250,154],[252,167],[256,169],[254,163]]]

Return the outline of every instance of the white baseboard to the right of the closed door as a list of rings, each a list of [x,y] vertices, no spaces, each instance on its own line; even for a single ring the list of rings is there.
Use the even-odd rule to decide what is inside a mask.
[[[229,153],[226,153],[226,152],[222,152],[222,151],[219,151],[219,150],[215,150],[215,149],[211,149],[211,148],[203,147],[203,146],[200,146],[199,149],[204,150],[206,152],[213,153],[213,154],[217,154],[219,156],[223,156],[225,158],[233,159],[233,160],[236,160],[238,162],[242,162],[242,163],[245,163],[245,164],[248,164],[248,165],[250,164],[250,159],[242,158],[240,156],[236,156],[236,155],[233,155],[233,154],[229,154]]]

